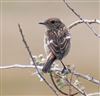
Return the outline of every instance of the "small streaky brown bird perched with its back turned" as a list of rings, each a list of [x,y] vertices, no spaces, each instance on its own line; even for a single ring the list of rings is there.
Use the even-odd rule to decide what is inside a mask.
[[[69,53],[71,35],[59,18],[48,18],[39,24],[45,25],[47,28],[44,34],[44,49],[47,59],[42,71],[49,73],[54,61],[62,62],[62,59]]]

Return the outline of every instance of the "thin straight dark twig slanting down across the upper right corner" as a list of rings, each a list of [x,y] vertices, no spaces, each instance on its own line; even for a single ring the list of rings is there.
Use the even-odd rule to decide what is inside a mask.
[[[93,32],[93,34],[95,36],[97,36],[98,38],[100,38],[100,34],[98,35],[97,32],[93,29],[93,27],[88,23],[85,22],[84,19],[67,3],[67,0],[63,0],[63,2],[66,4],[66,6],[80,19],[82,20],[89,28],[90,30]]]

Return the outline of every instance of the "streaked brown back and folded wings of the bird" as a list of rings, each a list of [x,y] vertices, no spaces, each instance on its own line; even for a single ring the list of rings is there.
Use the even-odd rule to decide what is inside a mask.
[[[51,32],[49,37],[49,49],[57,58],[62,59],[70,48],[70,34],[67,30],[63,30],[63,32],[60,31],[59,34]]]

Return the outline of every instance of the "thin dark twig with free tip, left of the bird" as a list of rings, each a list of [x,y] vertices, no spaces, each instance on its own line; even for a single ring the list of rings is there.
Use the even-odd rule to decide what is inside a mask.
[[[34,66],[35,66],[35,69],[36,69],[37,73],[38,73],[39,76],[44,80],[44,82],[49,86],[49,88],[56,94],[56,96],[58,96],[56,90],[47,82],[47,80],[46,80],[46,79],[41,75],[41,73],[39,72],[38,67],[37,67],[37,65],[35,64],[34,58],[33,58],[33,56],[32,56],[32,52],[30,51],[29,46],[28,46],[28,44],[27,44],[27,42],[26,42],[26,40],[25,40],[25,38],[24,38],[24,35],[23,35],[22,29],[21,29],[21,27],[20,27],[20,24],[18,24],[18,27],[19,27],[19,32],[20,32],[20,34],[21,34],[21,36],[22,36],[23,43],[25,44],[25,47],[26,47],[26,49],[27,49],[27,51],[28,51],[28,53],[29,53],[29,56],[30,56],[31,59],[32,59],[32,62],[33,62],[33,64],[34,64]]]

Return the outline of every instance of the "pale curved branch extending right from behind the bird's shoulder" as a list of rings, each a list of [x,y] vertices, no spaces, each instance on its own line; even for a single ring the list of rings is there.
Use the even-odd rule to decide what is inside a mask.
[[[94,19],[94,20],[86,20],[85,19],[84,22],[88,22],[89,24],[93,24],[93,23],[100,24],[100,20],[98,20],[98,19]],[[71,28],[75,27],[76,25],[82,24],[84,22],[83,22],[83,20],[77,20],[77,21],[73,22],[72,24],[70,24],[67,28],[70,30]]]

